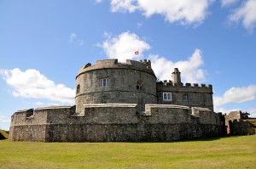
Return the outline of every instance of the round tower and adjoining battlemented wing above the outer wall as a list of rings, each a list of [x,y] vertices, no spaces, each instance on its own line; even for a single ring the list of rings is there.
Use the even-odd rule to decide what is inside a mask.
[[[79,70],[76,111],[82,113],[84,104],[109,103],[137,104],[138,111],[144,111],[145,104],[177,104],[213,111],[212,85],[183,85],[180,74],[175,68],[172,81],[156,82],[150,60],[98,60],[96,65],[87,64]],[[108,87],[100,86],[103,79],[108,79]],[[171,93],[172,99],[164,100],[163,93]]]

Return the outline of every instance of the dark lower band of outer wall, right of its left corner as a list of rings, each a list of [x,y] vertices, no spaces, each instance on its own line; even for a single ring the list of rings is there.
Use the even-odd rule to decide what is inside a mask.
[[[65,132],[64,132],[65,131]],[[46,142],[169,142],[219,136],[217,125],[72,124],[47,126]]]

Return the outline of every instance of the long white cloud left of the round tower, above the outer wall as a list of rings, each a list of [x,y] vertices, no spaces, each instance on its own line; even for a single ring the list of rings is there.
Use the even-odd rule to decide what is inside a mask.
[[[63,84],[55,84],[38,70],[0,70],[3,80],[13,88],[15,97],[49,99],[73,104],[75,90]]]

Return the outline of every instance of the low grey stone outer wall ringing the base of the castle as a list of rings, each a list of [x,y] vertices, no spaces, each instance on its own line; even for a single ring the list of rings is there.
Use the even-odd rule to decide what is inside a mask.
[[[84,105],[84,115],[72,108],[38,109],[41,123],[12,121],[12,141],[44,142],[166,142],[219,136],[218,124],[201,124],[186,106],[146,105],[145,115],[137,115],[136,104]],[[26,112],[24,112],[25,114]],[[207,112],[205,112],[206,114]],[[209,112],[212,113],[212,112]],[[14,119],[17,118],[15,113]],[[21,115],[22,116],[22,115]],[[20,121],[26,117],[19,116]],[[215,118],[215,117],[214,117]],[[44,121],[43,121],[44,120]]]

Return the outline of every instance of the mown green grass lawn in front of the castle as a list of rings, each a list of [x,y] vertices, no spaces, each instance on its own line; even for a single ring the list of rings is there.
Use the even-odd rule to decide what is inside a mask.
[[[0,168],[256,168],[256,135],[172,143],[1,140]]]

